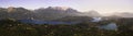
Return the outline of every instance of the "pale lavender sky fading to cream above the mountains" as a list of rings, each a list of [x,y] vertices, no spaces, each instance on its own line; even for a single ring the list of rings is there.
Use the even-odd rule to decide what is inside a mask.
[[[0,0],[0,7],[23,7],[25,9],[69,7],[82,12],[95,10],[104,14],[112,12],[133,13],[133,0]]]

